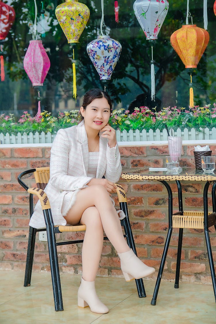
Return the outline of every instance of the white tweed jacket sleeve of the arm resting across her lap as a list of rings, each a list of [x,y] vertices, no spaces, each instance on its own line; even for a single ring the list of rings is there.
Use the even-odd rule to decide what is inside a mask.
[[[74,177],[67,175],[68,156],[71,150],[71,140],[67,132],[60,129],[53,141],[50,157],[50,182],[58,190],[74,191],[86,187],[91,177]]]

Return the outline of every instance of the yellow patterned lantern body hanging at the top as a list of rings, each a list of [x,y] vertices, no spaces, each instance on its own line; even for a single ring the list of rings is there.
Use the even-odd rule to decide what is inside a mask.
[[[90,15],[88,7],[77,0],[66,0],[56,7],[55,15],[68,43],[78,43]]]

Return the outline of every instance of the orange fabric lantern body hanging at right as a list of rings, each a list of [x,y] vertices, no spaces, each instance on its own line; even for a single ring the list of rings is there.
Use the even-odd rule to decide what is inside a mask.
[[[183,25],[174,31],[170,42],[185,67],[194,68],[208,45],[209,33],[197,25]]]

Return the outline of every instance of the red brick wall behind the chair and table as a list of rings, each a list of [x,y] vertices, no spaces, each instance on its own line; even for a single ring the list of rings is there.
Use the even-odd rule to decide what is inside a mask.
[[[216,145],[210,145],[216,155]],[[194,167],[194,147],[184,145],[181,163]],[[121,146],[123,171],[143,167],[164,167],[162,156],[168,154],[167,145]],[[28,195],[17,182],[17,175],[30,168],[49,166],[50,147],[0,148],[0,269],[20,271],[25,269],[28,242]],[[26,179],[29,186],[34,179]],[[131,226],[139,257],[158,270],[165,244],[168,217],[167,192],[160,182],[126,182],[119,180],[127,192]],[[177,188],[171,184],[174,211],[177,211]],[[203,184],[183,183],[184,208],[202,210]],[[211,190],[211,186],[210,186]],[[116,198],[115,198],[116,199]],[[210,195],[209,195],[210,204]],[[61,234],[71,238],[77,234]],[[79,233],[79,237],[83,234]],[[210,228],[213,258],[216,260],[216,237]],[[173,230],[166,258],[163,278],[175,279],[178,230]],[[58,247],[61,272],[80,273],[81,244]],[[120,262],[114,248],[104,242],[99,275],[120,276]],[[47,243],[36,239],[34,271],[49,271]],[[153,274],[156,279],[157,271]],[[184,230],[180,280],[182,282],[211,283],[210,268],[203,230]]]

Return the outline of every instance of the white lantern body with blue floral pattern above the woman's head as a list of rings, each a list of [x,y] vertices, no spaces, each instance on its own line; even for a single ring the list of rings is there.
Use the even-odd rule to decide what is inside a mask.
[[[121,44],[109,36],[102,35],[87,45],[87,52],[100,80],[110,80],[121,54]]]

